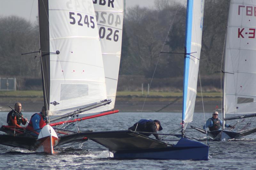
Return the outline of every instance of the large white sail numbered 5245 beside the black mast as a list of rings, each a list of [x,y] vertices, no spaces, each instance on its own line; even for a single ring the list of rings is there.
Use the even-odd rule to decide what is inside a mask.
[[[49,1],[49,115],[107,99],[100,39],[92,1]],[[42,38],[42,37],[41,37]],[[93,112],[104,111],[101,108]]]

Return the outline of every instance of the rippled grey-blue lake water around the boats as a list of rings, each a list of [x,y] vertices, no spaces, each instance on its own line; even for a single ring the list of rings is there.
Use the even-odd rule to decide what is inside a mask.
[[[29,120],[33,113],[23,115]],[[206,120],[211,115],[206,113]],[[0,125],[6,124],[6,116],[7,112],[0,112]],[[234,115],[227,117],[231,116]],[[163,126],[161,132],[170,133],[180,127],[181,113],[116,113],[79,122],[78,128],[93,131],[126,130],[145,118],[159,120]],[[228,124],[234,125],[236,122],[232,120]],[[248,122],[251,122],[249,128],[256,127],[256,118],[246,118],[243,122],[240,120],[235,130]],[[186,136],[204,140],[204,134],[190,128],[190,125],[202,127],[203,124],[204,114],[195,113],[194,121],[186,129]],[[205,140],[202,142],[206,143]],[[0,169],[256,169],[256,133],[239,140],[209,141],[209,145],[208,161],[113,159],[107,148],[91,140],[83,144],[62,145],[55,148],[57,153],[54,155],[0,145]]]

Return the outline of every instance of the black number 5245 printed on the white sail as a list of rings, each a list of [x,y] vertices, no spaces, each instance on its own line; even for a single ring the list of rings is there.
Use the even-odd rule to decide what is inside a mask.
[[[74,16],[78,16],[77,24],[79,26],[83,26],[85,24],[85,25],[87,25],[87,27],[91,26],[91,28],[95,28],[95,24],[93,22],[94,17],[85,15],[84,21],[82,21],[83,17],[80,13],[77,13],[75,15],[75,12],[69,12],[69,18],[71,19],[71,21],[69,23],[72,25],[76,24],[76,18]],[[90,17],[90,21],[89,21],[89,17]]]

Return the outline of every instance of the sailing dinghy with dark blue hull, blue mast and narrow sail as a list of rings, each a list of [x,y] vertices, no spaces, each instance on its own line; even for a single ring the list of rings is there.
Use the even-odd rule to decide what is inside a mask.
[[[208,160],[209,146],[185,136],[187,124],[193,120],[195,107],[203,12],[203,0],[188,0],[182,133],[174,135],[181,137],[178,143],[167,144],[131,130],[85,132],[87,138],[107,147],[113,152],[114,158]]]

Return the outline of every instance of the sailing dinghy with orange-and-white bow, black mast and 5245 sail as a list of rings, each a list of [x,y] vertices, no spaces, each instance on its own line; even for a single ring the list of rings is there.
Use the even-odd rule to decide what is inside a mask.
[[[118,110],[113,110],[114,105],[104,107],[111,100],[107,100],[93,2],[38,0],[38,7],[39,53],[47,125],[38,137],[28,137],[24,129],[2,126],[1,130],[7,134],[0,135],[0,144],[54,153],[55,146],[87,140],[83,131],[68,130],[72,123]],[[93,115],[77,118],[80,113]],[[68,120],[52,123],[66,117]],[[56,125],[60,127],[53,129]]]

